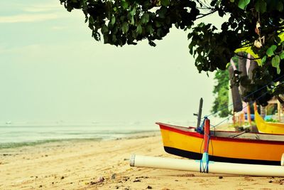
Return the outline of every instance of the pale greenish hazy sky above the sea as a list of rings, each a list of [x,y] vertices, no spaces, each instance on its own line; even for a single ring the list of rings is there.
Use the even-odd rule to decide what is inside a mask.
[[[198,73],[187,32],[104,45],[59,0],[0,1],[0,28],[0,123],[183,122],[200,97],[210,113],[214,74]]]

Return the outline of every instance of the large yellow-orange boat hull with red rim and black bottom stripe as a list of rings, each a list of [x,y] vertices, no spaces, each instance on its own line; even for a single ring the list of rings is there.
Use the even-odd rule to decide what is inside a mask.
[[[157,122],[165,152],[189,159],[202,159],[206,140],[197,127],[180,127]],[[209,161],[280,165],[284,135],[208,130]]]

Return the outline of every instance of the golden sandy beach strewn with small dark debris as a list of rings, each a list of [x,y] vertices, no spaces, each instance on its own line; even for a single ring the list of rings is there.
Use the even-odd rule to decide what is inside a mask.
[[[131,154],[173,157],[160,134],[0,149],[0,189],[284,189],[284,178],[129,167]]]

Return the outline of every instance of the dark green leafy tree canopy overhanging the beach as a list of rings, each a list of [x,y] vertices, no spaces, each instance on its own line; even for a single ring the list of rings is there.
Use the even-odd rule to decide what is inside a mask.
[[[225,70],[230,58],[251,53],[253,78],[235,73],[246,100],[266,105],[284,93],[284,0],[60,0],[67,11],[81,9],[96,41],[114,46],[147,40],[155,46],[176,27],[188,31],[189,52],[202,72]],[[229,19],[217,28],[197,19],[217,13]],[[267,86],[266,86],[267,85]],[[263,88],[263,86],[266,86]],[[261,90],[258,90],[261,89]],[[256,93],[252,93],[256,92]]]

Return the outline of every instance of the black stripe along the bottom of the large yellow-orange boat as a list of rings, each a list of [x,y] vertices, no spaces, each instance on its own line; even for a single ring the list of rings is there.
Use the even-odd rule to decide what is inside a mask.
[[[185,151],[182,149],[175,149],[172,147],[164,147],[165,152],[169,154],[175,154],[180,157],[185,157],[189,159],[202,159],[202,154],[196,152]],[[209,160],[214,162],[230,162],[239,164],[261,164],[261,165],[275,165],[280,166],[280,161],[269,161],[260,159],[236,159],[227,157],[216,157],[209,155]]]

